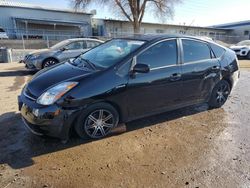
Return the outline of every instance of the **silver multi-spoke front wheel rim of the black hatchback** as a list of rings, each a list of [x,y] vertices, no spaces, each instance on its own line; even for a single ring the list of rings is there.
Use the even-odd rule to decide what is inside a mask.
[[[87,116],[84,122],[84,129],[89,137],[102,138],[111,131],[114,124],[113,114],[108,110],[99,109]]]

